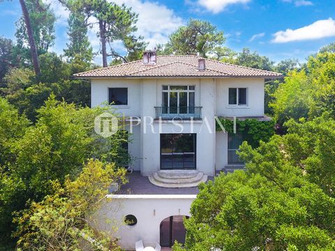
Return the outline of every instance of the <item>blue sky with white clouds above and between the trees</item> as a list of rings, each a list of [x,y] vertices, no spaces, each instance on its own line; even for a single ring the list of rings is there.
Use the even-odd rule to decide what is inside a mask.
[[[57,16],[52,51],[63,53],[67,40],[68,10],[57,0],[51,4]],[[138,13],[137,35],[148,48],[166,43],[168,36],[190,18],[207,20],[223,31],[225,46],[239,52],[244,47],[273,61],[305,61],[320,47],[335,41],[335,0],[114,0]],[[15,22],[22,15],[17,0],[0,1],[0,36],[15,40]],[[95,30],[89,32],[94,50],[99,49]],[[114,43],[122,51],[121,43]],[[100,61],[96,59],[98,63]]]

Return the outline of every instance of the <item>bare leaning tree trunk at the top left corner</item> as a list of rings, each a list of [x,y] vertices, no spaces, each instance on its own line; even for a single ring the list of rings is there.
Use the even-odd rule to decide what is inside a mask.
[[[24,22],[26,24],[28,38],[29,38],[29,47],[30,47],[30,52],[31,52],[31,59],[33,60],[35,74],[36,74],[36,76],[38,76],[38,75],[40,75],[40,64],[38,63],[38,55],[37,55],[37,50],[36,50],[34,33],[33,33],[33,29],[31,28],[31,22],[30,22],[30,17],[29,17],[29,13],[28,13],[28,10],[27,10],[26,3],[24,2],[24,0],[20,0],[20,4],[21,4],[22,14],[23,14],[23,17],[24,17]]]

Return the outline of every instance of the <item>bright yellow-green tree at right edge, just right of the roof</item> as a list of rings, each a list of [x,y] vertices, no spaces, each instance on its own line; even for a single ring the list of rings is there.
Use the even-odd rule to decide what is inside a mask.
[[[335,117],[335,54],[310,56],[300,72],[292,71],[274,91],[270,107],[283,124],[289,119],[313,119],[329,112]]]

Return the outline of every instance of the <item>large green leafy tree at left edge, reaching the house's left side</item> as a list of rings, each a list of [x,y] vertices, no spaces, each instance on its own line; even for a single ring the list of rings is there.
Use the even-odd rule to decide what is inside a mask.
[[[104,139],[94,132],[94,119],[102,112],[113,112],[110,107],[76,107],[51,96],[38,109],[35,125],[29,127],[24,124],[27,119],[6,101],[1,100],[1,107],[1,130],[6,132],[1,137],[1,156],[10,154],[6,168],[0,169],[1,243],[10,243],[13,211],[26,208],[29,199],[38,202],[52,195],[54,181],[63,184],[66,177],[75,178],[87,159],[115,162],[117,167],[131,160],[123,148],[128,137],[119,133]]]

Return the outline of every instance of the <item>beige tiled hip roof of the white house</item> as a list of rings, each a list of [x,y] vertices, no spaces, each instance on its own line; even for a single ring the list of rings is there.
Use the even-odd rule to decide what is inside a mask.
[[[144,65],[142,60],[117,66],[77,73],[77,78],[94,77],[282,77],[280,73],[258,70],[230,63],[205,59],[206,70],[198,70],[200,56],[157,56],[156,65]]]

